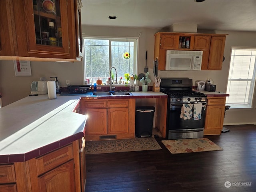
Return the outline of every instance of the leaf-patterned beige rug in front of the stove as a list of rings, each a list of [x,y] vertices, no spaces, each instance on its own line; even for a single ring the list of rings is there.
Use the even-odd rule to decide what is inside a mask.
[[[208,138],[162,140],[162,143],[172,154],[223,150]]]

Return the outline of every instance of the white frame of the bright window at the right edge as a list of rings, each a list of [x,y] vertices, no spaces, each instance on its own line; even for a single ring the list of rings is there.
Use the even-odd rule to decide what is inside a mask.
[[[247,79],[245,79],[245,78],[229,79],[230,70],[232,70],[231,69],[231,66],[232,66],[232,64],[231,64],[231,62],[232,62],[232,60],[231,60],[231,58],[232,58],[232,51],[234,49],[255,50],[256,51],[256,47],[243,47],[243,46],[232,46],[231,47],[231,50],[230,50],[230,63],[229,63],[229,68],[228,68],[228,78],[227,78],[227,85],[226,85],[226,92],[228,94],[229,94],[229,92],[228,92],[228,88],[229,88],[228,84],[229,84],[229,82],[232,82],[232,81],[235,81],[235,80],[236,81],[239,80],[240,82],[248,81],[249,80],[249,78],[247,78]],[[235,104],[233,102],[228,102],[228,99],[226,99],[226,105],[231,106],[231,108],[238,108],[238,109],[254,108],[253,106],[254,106],[255,98],[256,98],[256,88],[255,88],[255,86],[256,86],[256,59],[254,61],[254,70],[253,70],[251,82],[252,82],[252,86],[251,86],[251,90],[250,90],[251,98],[250,98],[249,104],[238,104],[238,103]]]

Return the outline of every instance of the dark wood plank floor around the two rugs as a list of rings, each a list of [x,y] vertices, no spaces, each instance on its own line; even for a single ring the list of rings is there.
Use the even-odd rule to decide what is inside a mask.
[[[223,151],[162,150],[86,155],[86,192],[256,192],[256,126],[206,136]],[[251,182],[251,186],[224,183]]]

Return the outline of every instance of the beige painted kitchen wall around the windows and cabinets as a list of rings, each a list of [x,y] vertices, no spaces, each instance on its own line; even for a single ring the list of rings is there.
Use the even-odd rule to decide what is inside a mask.
[[[113,32],[114,31],[114,32]],[[154,60],[154,34],[159,29],[153,28],[132,28],[132,27],[110,27],[110,26],[82,26],[82,32],[86,35],[93,36],[140,36],[140,46],[138,60],[138,72],[144,69],[144,50],[148,50],[148,60]],[[207,32],[206,30],[198,30],[198,32]],[[217,90],[226,92],[226,82],[229,68],[229,56],[231,46],[256,46],[255,32],[232,31],[232,30],[215,30],[217,34],[228,34],[226,36],[224,55],[226,60],[222,64],[221,71],[182,71],[179,73],[159,71],[160,77],[189,77],[193,79],[193,85],[196,86],[196,80],[206,80],[212,78]],[[253,41],[254,40],[254,41]],[[3,105],[6,106],[16,100],[24,98],[30,94],[30,84],[34,80],[38,80],[40,76],[46,74],[50,76],[58,76],[61,85],[66,84],[66,79],[70,80],[70,84],[81,84],[83,79],[82,62],[66,63],[66,62],[31,62],[32,76],[15,76],[13,69],[13,61],[1,60],[1,94]],[[74,72],[74,73],[70,73]],[[153,74],[152,63],[149,63],[149,72]],[[200,76],[200,79],[198,79]],[[17,90],[19,94],[17,94]],[[255,101],[254,101],[255,104]],[[224,124],[253,124],[256,122],[255,108],[249,110],[229,110],[225,116]]]

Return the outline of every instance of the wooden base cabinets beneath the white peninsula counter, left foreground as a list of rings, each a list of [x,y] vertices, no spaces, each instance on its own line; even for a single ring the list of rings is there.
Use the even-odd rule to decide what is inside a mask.
[[[82,143],[82,142],[80,142]],[[80,145],[76,140],[26,162],[1,164],[1,192],[82,192]],[[84,155],[84,154],[83,154]],[[85,177],[85,175],[83,175]],[[83,177],[83,178],[84,178]],[[85,180],[85,178],[83,179]]]

